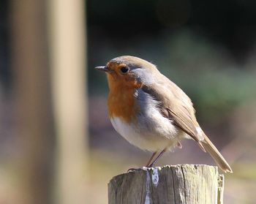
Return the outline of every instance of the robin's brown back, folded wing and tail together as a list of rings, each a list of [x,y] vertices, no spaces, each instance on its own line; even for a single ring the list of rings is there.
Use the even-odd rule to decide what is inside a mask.
[[[164,75],[157,77],[157,83],[151,86],[144,85],[142,89],[159,101],[159,109],[162,111],[162,116],[170,118],[176,126],[197,141],[200,148],[211,154],[217,165],[225,173],[232,173],[230,165],[228,165],[208,137],[204,133],[203,138],[198,137],[196,127],[199,127],[199,124],[195,118],[195,110],[189,97],[175,83],[165,78]]]

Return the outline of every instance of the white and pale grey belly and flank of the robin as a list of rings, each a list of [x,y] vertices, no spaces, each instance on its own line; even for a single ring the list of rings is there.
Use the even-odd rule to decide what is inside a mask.
[[[164,148],[170,150],[185,137],[184,132],[159,112],[159,102],[141,89],[135,92],[135,97],[140,113],[133,123],[127,124],[117,117],[110,118],[116,131],[129,143],[148,151],[162,151]]]

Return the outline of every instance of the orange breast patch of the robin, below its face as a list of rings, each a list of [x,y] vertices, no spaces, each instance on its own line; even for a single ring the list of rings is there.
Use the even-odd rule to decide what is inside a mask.
[[[140,111],[136,104],[135,88],[140,84],[132,80],[120,80],[108,75],[108,85],[110,93],[108,95],[108,112],[110,118],[118,117],[130,123],[135,120],[135,116]]]

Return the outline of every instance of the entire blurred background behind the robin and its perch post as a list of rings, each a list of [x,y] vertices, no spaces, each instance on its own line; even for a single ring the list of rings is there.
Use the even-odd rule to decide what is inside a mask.
[[[105,74],[132,55],[194,102],[233,174],[228,203],[255,203],[256,1],[1,0],[0,203],[108,203],[107,184],[145,165],[110,124]],[[184,141],[159,165],[214,165]]]

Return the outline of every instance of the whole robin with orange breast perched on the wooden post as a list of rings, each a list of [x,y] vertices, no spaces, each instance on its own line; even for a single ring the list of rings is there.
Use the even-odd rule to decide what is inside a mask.
[[[192,139],[211,155],[220,169],[233,173],[195,117],[191,99],[157,66],[135,56],[118,56],[95,67],[108,78],[108,115],[116,132],[129,143],[153,154],[154,167],[166,151]]]

